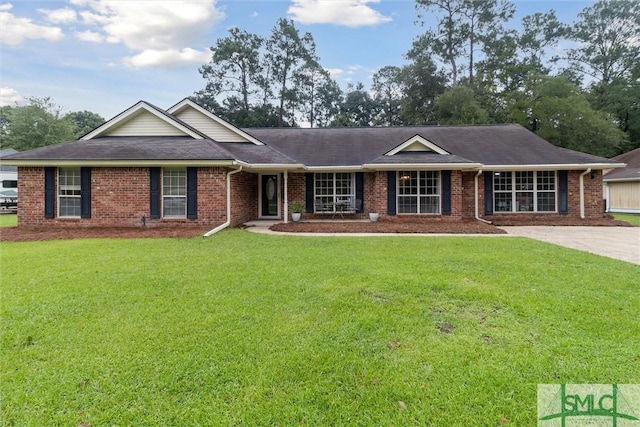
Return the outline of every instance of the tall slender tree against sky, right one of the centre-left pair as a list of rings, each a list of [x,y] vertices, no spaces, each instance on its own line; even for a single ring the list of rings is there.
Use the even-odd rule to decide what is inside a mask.
[[[279,19],[267,41],[266,61],[278,96],[278,125],[284,126],[285,116],[294,122],[292,110],[298,103],[293,76],[305,68],[316,68],[318,63],[313,36],[306,33],[301,37],[293,21]]]

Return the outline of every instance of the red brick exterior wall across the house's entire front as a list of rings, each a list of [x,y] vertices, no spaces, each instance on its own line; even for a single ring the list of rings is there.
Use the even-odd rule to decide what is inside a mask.
[[[149,168],[113,168],[96,167],[91,169],[91,218],[55,218],[44,217],[44,168],[18,168],[18,224],[51,225],[60,227],[112,227],[184,224],[185,226],[211,226],[214,228],[226,221],[226,179],[228,168],[198,168],[197,198],[198,218],[189,219],[150,219],[150,177]],[[584,171],[568,172],[568,217],[580,217],[580,174]],[[288,174],[289,206],[294,202],[305,205],[305,173]],[[476,172],[451,172],[451,215],[420,215],[425,221],[459,221],[473,219],[475,216],[475,176]],[[259,175],[239,172],[231,176],[231,226],[259,218]],[[284,179],[281,179],[281,192],[284,196]],[[557,185],[557,183],[556,183]],[[364,214],[377,212],[382,217],[387,212],[387,172],[364,173]],[[559,213],[499,213],[484,214],[484,177],[478,177],[478,206],[481,217],[531,218],[557,217]],[[56,183],[57,194],[57,183]],[[603,214],[602,171],[595,171],[584,177],[585,216],[598,218]],[[56,197],[57,203],[57,197]],[[281,200],[284,210],[284,197]],[[57,213],[57,208],[55,209]],[[289,215],[290,213],[286,213]],[[327,215],[304,214],[305,218],[327,218]],[[345,216],[346,217],[346,216]],[[416,217],[415,215],[397,215]],[[143,220],[144,218],[144,220]]]

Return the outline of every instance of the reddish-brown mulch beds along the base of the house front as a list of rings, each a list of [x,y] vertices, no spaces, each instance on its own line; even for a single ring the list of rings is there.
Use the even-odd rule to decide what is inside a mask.
[[[569,218],[545,218],[544,220],[500,219],[495,225],[480,221],[442,222],[430,219],[382,219],[378,222],[290,222],[276,224],[274,231],[290,233],[444,233],[444,234],[505,234],[497,226],[508,225],[562,225],[562,226],[630,226],[625,221],[611,217],[580,220]],[[27,242],[39,240],[68,240],[92,238],[173,238],[202,236],[210,228],[185,226],[155,227],[3,227],[0,241]]]

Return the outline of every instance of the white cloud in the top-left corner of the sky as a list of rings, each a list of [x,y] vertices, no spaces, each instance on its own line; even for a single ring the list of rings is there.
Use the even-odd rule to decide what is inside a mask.
[[[59,41],[64,38],[62,29],[34,24],[29,18],[20,18],[11,13],[13,5],[0,5],[0,43],[11,46],[21,45],[25,39]]]

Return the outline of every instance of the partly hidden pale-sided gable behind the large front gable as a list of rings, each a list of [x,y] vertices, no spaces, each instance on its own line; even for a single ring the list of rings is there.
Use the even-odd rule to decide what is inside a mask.
[[[262,141],[222,120],[190,99],[183,99],[169,108],[167,112],[196,128],[214,141],[251,142],[255,145],[264,145]]]

